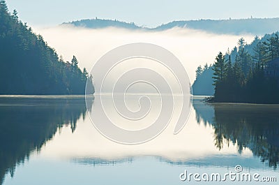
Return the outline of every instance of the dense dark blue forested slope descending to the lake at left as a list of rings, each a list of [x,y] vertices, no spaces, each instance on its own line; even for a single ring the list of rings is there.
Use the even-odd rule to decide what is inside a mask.
[[[91,77],[77,64],[75,56],[71,61],[58,57],[0,0],[0,94],[84,94]]]

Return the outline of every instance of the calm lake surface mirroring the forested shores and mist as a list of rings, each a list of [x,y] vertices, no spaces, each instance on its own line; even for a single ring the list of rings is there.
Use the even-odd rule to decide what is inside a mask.
[[[96,130],[84,96],[1,96],[0,182],[202,184],[209,174],[207,184],[238,184],[241,173],[258,174],[257,184],[279,181],[279,105],[209,104],[203,98],[193,97],[180,133],[173,134],[171,121],[149,142],[121,145]],[[89,111],[98,109],[91,103]],[[200,176],[189,179],[190,173]],[[212,173],[235,173],[236,179],[211,182]]]

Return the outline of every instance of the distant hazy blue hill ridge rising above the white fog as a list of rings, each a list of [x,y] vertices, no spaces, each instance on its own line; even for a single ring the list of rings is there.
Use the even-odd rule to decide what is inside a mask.
[[[131,22],[121,22],[119,20],[87,19],[66,22],[63,24],[73,24],[75,27],[87,27],[91,29],[118,27],[124,29],[145,29],[150,31],[163,31],[174,27],[198,29],[214,34],[255,34],[264,35],[279,30],[278,18],[250,18],[241,20],[181,20],[162,24],[156,28],[137,26]]]

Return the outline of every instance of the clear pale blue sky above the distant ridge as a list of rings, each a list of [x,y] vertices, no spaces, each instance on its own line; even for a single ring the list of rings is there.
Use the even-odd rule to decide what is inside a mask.
[[[147,27],[172,20],[279,17],[278,0],[6,0],[10,11],[31,26],[52,26],[87,18],[117,19]]]

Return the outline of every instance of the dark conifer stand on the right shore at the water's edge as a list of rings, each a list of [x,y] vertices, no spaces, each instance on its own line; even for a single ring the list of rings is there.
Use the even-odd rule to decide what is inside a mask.
[[[278,77],[265,73],[269,62],[279,57],[278,33],[266,40],[256,36],[253,43],[252,52],[246,50],[246,40],[240,38],[232,52],[218,53],[212,68],[215,93],[211,101],[279,103]]]

